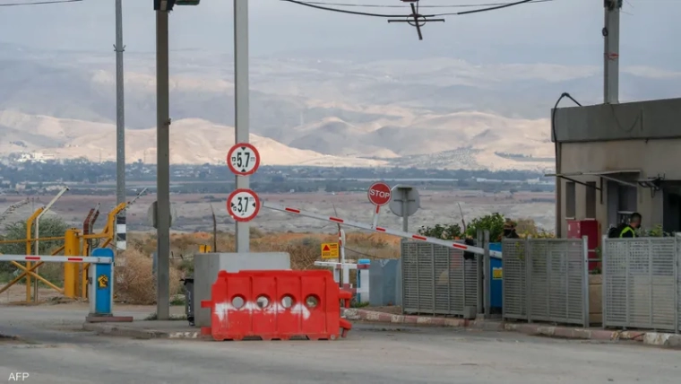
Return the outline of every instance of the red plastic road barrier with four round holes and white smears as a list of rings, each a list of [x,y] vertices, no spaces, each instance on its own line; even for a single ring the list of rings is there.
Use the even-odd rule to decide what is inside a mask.
[[[335,340],[352,328],[340,319],[340,300],[347,308],[350,298],[331,271],[220,271],[211,301],[201,302],[211,308],[211,327],[201,333],[218,341],[255,336]]]

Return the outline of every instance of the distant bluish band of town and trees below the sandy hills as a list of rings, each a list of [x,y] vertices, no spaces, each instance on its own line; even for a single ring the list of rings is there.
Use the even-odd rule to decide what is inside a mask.
[[[126,165],[127,193],[156,189],[156,165],[137,161]],[[171,165],[174,194],[225,193],[234,188],[226,164]],[[553,178],[530,170],[424,170],[417,168],[328,168],[263,166],[251,177],[260,193],[349,192],[366,190],[375,180],[408,183],[425,190],[485,192],[550,192]],[[28,153],[0,158],[0,194],[45,195],[68,186],[75,195],[113,195],[116,163],[85,159],[55,160]]]

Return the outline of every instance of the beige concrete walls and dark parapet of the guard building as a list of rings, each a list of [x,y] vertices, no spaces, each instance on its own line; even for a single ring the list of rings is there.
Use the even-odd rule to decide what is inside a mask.
[[[665,175],[666,182],[681,180],[681,99],[647,100],[623,104],[599,104],[588,107],[556,109],[556,134],[552,140],[561,144],[559,173],[602,170],[641,170],[639,174],[611,175],[634,182]],[[578,181],[595,181],[598,176],[576,176]],[[559,235],[566,236],[566,180],[560,180],[562,196],[556,199]],[[576,216],[586,215],[586,188],[576,185]],[[596,219],[602,231],[616,223],[619,185],[604,180],[603,199],[597,191]],[[664,185],[663,185],[664,188]],[[663,224],[665,193],[651,196],[650,188],[637,188],[636,211],[643,215],[643,226]],[[672,221],[676,221],[676,218]],[[668,220],[669,222],[669,220]],[[678,224],[677,224],[678,225]]]

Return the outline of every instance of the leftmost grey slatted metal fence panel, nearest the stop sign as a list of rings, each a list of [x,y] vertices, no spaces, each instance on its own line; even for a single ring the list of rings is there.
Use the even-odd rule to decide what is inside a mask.
[[[478,309],[478,262],[461,250],[402,240],[401,269],[405,313],[465,316],[467,307]]]

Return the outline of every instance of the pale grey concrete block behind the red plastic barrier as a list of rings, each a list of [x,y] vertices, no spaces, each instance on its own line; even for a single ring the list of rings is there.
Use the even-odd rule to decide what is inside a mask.
[[[211,300],[211,287],[218,272],[290,269],[288,253],[199,253],[194,255],[194,323],[211,327],[211,310],[201,308],[201,301]]]

